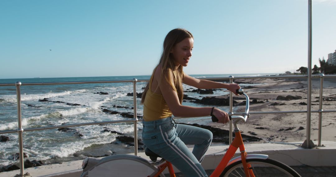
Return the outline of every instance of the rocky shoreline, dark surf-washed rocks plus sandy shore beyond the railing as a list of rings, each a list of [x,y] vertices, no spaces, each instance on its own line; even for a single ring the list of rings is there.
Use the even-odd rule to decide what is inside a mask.
[[[218,81],[218,80],[216,80]],[[222,81],[226,81],[225,79]],[[227,80],[228,81],[228,80]],[[259,111],[291,111],[291,110],[306,110],[307,109],[307,85],[305,80],[300,79],[254,79],[253,83],[260,83],[260,85],[249,86],[244,88],[246,93],[250,96],[250,112]],[[236,83],[251,83],[247,79],[237,79]],[[313,91],[312,91],[312,110],[318,110],[319,102],[319,80],[313,80]],[[325,80],[324,83],[324,97],[323,97],[323,109],[324,110],[335,110],[336,105],[336,94],[335,87],[336,82],[334,80]],[[193,102],[202,105],[213,105],[213,106],[228,106],[228,96],[216,96],[211,97],[213,91],[216,90],[186,90],[183,97],[183,102]],[[196,92],[198,94],[206,95],[202,99],[191,98],[187,94],[188,92]],[[108,95],[106,92],[94,93],[101,95]],[[137,98],[141,98],[142,93],[137,93]],[[127,96],[133,96],[133,93],[128,93]],[[39,100],[40,102],[55,102],[51,99],[44,98]],[[57,103],[67,104],[70,106],[84,106],[75,103],[66,103],[57,101]],[[243,112],[245,107],[245,98],[234,96],[234,105],[238,107],[237,112]],[[27,105],[34,107],[34,105]],[[113,108],[113,109],[112,109]],[[114,108],[122,108],[128,111],[119,112],[115,111]],[[101,106],[100,110],[105,114],[119,114],[122,117],[133,119],[133,108],[113,105],[113,107]],[[141,114],[137,114],[138,119],[142,118]],[[325,113],[323,114],[323,140],[336,140],[334,132],[336,131],[336,126],[334,121],[336,120],[333,114]],[[252,142],[268,142],[268,141],[281,141],[281,142],[291,142],[291,141],[303,141],[305,139],[304,130],[306,127],[306,113],[300,114],[251,114],[247,123],[239,124],[239,127],[243,131],[244,141],[248,143]],[[311,138],[317,139],[317,114],[312,113],[312,131]],[[184,123],[181,123],[184,124]],[[209,129],[213,132],[213,142],[214,143],[228,143],[228,130],[227,125],[212,123],[209,121],[206,125],[191,124],[193,126],[198,126],[202,128]],[[121,132],[117,132],[112,128],[105,125],[101,125],[101,132],[110,132],[118,135],[116,141],[111,143],[114,144],[126,144],[127,146],[134,146],[134,137],[125,135]],[[83,136],[75,128],[59,128],[58,131],[65,133],[72,133],[74,136]],[[141,130],[140,130],[141,131]],[[1,136],[1,142],[5,143],[10,140],[6,136]],[[138,150],[143,150],[143,142],[138,139]],[[117,153],[111,153],[107,155],[93,156],[91,154],[74,154],[75,157],[103,157],[108,155],[113,155]],[[28,156],[26,154],[26,156]],[[18,154],[13,154],[11,157],[14,160],[18,160]],[[16,163],[17,164],[17,163]],[[0,167],[0,172],[10,171],[18,169],[16,164],[11,164],[8,166]],[[25,161],[25,167],[36,167],[44,165],[45,162],[39,160]]]

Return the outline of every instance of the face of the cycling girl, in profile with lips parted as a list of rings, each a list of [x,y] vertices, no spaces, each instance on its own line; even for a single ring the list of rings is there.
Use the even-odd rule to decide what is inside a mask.
[[[170,51],[174,57],[175,66],[179,65],[187,66],[190,57],[192,56],[192,50],[194,48],[194,39],[185,38],[183,41],[177,43]]]

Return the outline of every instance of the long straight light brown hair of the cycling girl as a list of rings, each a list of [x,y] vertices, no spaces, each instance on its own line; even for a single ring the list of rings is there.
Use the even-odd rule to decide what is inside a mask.
[[[167,82],[173,87],[173,89],[177,92],[180,104],[182,104],[183,100],[183,87],[182,87],[182,80],[184,77],[183,66],[180,65],[175,70],[174,58],[173,55],[170,53],[170,51],[177,43],[183,41],[186,38],[194,38],[194,37],[190,32],[182,28],[176,28],[170,31],[163,42],[163,52],[159,61],[159,64],[161,64],[162,68],[160,80],[162,78],[165,78]],[[157,67],[155,67],[155,69],[156,68]],[[155,69],[152,73],[152,76],[155,72]],[[171,75],[173,76],[173,78],[170,78]],[[141,104],[144,103],[148,89],[149,89],[149,83],[147,83],[142,93]]]

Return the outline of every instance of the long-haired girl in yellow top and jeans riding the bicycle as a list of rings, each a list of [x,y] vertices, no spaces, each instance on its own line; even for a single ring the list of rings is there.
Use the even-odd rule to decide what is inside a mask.
[[[175,124],[172,115],[214,115],[219,123],[226,123],[229,118],[226,112],[217,108],[183,106],[182,83],[201,89],[226,88],[235,94],[240,86],[200,80],[185,74],[183,67],[188,65],[193,47],[193,35],[185,29],[173,29],[167,34],[159,64],[142,94],[142,138],[147,148],[171,162],[185,176],[203,177],[207,175],[200,163],[211,144],[212,133],[203,128]],[[195,144],[193,152],[186,144]]]

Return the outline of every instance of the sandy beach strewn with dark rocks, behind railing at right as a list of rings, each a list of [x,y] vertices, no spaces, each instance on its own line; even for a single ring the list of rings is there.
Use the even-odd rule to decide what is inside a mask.
[[[323,110],[336,110],[336,79],[325,78],[323,83]],[[250,112],[294,111],[307,110],[307,80],[306,79],[237,79],[236,82],[261,83],[262,85],[245,88],[250,101],[257,99],[264,103],[250,104]],[[319,110],[320,79],[312,81],[311,110]],[[277,100],[278,96],[300,96],[297,100]],[[241,102],[242,97],[234,96]],[[332,100],[332,101],[327,101]],[[300,104],[301,103],[301,104]],[[239,106],[237,112],[244,112],[245,107]],[[307,113],[288,114],[251,114],[246,123],[239,124],[243,134],[262,138],[262,142],[281,141],[294,142],[306,139]],[[335,113],[322,114],[322,140],[336,140]],[[311,113],[311,139],[318,140],[319,114]],[[211,126],[225,128],[223,125],[211,123]],[[301,128],[300,128],[301,127]],[[302,129],[302,127],[304,129]]]

